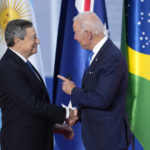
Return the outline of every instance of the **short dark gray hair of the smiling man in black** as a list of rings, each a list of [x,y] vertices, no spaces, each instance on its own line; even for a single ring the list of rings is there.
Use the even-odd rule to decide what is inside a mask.
[[[30,21],[23,19],[16,19],[10,21],[5,28],[5,41],[8,47],[14,46],[14,38],[24,40],[26,29],[32,27]]]

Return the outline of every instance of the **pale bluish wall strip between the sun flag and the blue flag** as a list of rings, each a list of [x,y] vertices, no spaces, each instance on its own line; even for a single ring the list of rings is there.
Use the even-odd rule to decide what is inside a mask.
[[[53,76],[61,0],[33,0],[46,77]]]

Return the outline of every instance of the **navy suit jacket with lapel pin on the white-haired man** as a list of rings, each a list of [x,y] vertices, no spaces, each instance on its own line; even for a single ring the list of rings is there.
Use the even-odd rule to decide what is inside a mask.
[[[73,105],[81,108],[87,150],[125,150],[130,142],[126,117],[127,65],[108,39],[84,72],[82,88],[74,88]]]

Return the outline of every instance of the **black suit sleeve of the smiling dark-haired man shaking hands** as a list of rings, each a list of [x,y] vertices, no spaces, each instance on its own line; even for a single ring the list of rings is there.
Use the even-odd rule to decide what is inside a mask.
[[[66,110],[39,99],[24,73],[15,69],[3,69],[0,75],[1,91],[18,107],[54,123],[65,120]],[[39,91],[40,92],[40,91]]]

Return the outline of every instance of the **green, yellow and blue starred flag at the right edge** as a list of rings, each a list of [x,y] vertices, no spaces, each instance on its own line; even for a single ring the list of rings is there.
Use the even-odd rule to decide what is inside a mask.
[[[122,50],[129,77],[127,113],[130,128],[144,150],[150,149],[150,1],[125,2]],[[125,35],[126,34],[126,35]],[[126,45],[127,42],[127,45]],[[142,149],[142,148],[135,148]]]

